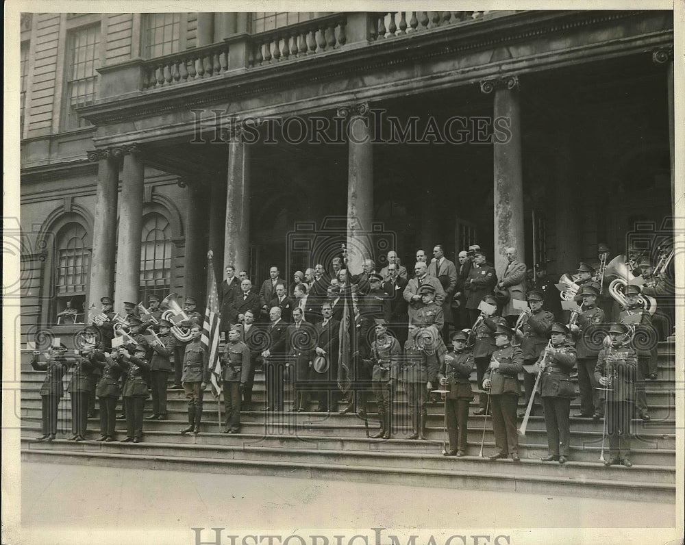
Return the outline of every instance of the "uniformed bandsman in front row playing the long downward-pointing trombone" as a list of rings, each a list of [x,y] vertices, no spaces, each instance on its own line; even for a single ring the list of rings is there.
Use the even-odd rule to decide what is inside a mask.
[[[565,464],[571,454],[571,431],[569,413],[571,399],[575,398],[575,388],[571,382],[571,369],[575,365],[575,348],[567,342],[569,328],[555,322],[551,325],[551,346],[540,353],[538,366],[540,395],[545,409],[545,428],[547,429],[547,456],[542,461],[558,461]]]

